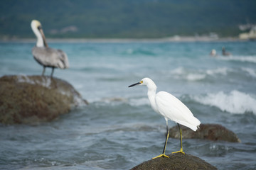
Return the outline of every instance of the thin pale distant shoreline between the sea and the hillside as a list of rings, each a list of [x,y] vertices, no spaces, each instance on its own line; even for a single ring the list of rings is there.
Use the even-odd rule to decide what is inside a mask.
[[[179,37],[170,38],[47,38],[48,42],[232,42],[239,38]],[[0,39],[0,42],[36,42],[36,38]]]

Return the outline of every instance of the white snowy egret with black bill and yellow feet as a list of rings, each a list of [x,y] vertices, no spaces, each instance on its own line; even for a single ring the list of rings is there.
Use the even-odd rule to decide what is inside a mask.
[[[159,113],[160,115],[163,115],[166,120],[166,141],[164,144],[164,150],[163,153],[160,154],[157,157],[168,157],[165,154],[167,140],[169,138],[169,128],[168,128],[168,120],[173,120],[178,124],[178,129],[180,131],[180,140],[181,140],[181,149],[177,152],[172,153],[178,153],[183,152],[182,148],[182,131],[180,128],[180,125],[184,125],[188,128],[191,128],[191,130],[196,131],[200,125],[200,121],[193,116],[193,113],[175,96],[167,93],[166,91],[159,91],[156,94],[156,84],[154,84],[154,81],[152,81],[149,78],[144,78],[142,81],[139,81],[136,84],[132,84],[129,87],[136,86],[136,85],[144,85],[148,88],[148,97],[149,102],[151,105],[151,108],[156,113]],[[154,158],[157,158],[154,157]],[[153,158],[153,159],[154,159]]]

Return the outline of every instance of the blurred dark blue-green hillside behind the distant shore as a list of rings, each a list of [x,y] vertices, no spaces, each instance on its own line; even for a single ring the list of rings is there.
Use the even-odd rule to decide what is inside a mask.
[[[236,36],[256,23],[255,0],[2,0],[0,38],[33,38],[38,19],[48,38]]]

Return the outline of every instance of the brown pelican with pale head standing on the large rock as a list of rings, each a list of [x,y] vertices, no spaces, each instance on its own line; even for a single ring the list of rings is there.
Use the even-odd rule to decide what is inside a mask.
[[[52,67],[50,77],[53,77],[55,68],[67,69],[69,67],[68,56],[62,50],[48,47],[41,23],[37,20],[33,20],[31,22],[31,28],[37,38],[36,46],[32,49],[32,54],[34,59],[39,64],[43,65],[42,76],[46,67]]]

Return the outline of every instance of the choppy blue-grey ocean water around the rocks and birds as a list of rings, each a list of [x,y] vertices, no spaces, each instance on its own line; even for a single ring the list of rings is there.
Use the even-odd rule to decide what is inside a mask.
[[[0,43],[0,75],[40,75],[33,42]],[[154,113],[150,77],[201,123],[218,123],[240,143],[183,140],[183,150],[218,169],[256,169],[256,42],[50,42],[70,69],[54,77],[77,89],[79,106],[50,123],[0,124],[0,169],[131,169],[162,152],[165,120]],[[233,55],[223,57],[225,46]],[[218,57],[210,57],[212,49]],[[46,69],[50,75],[51,69]],[[176,125],[169,121],[170,128]],[[179,149],[169,139],[166,154]]]

